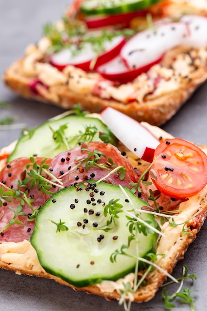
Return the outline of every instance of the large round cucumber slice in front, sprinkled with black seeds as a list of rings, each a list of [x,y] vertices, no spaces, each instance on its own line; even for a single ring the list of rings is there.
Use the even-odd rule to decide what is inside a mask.
[[[116,250],[128,244],[131,233],[125,212],[118,214],[116,225],[114,222],[106,225],[112,215],[104,216],[104,205],[117,198],[123,211],[132,211],[132,204],[136,209],[147,204],[128,188],[123,189],[125,193],[119,186],[92,181],[79,184],[78,188],[64,188],[45,203],[37,215],[31,244],[48,273],[76,287],[84,287],[102,280],[117,280],[134,272],[136,251],[140,257],[155,252],[158,234],[137,233],[138,241],[132,240],[129,248],[124,249],[133,257],[117,255],[115,262],[110,261]],[[135,216],[133,212],[131,214]],[[151,214],[142,213],[141,217],[151,226],[158,227]],[[63,222],[68,230],[58,231],[53,222]],[[111,230],[104,231],[106,228]]]

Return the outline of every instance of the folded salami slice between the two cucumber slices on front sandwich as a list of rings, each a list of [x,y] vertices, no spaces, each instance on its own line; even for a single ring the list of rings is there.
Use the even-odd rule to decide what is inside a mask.
[[[90,179],[103,179],[127,187],[138,182],[138,175],[127,158],[115,146],[102,142],[84,143],[60,153],[52,160],[49,170],[62,180],[65,187]]]

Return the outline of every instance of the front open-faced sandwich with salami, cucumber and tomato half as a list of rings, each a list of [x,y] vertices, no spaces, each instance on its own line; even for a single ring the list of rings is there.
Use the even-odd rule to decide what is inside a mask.
[[[25,131],[0,153],[0,267],[152,299],[206,218],[206,153],[113,108]]]

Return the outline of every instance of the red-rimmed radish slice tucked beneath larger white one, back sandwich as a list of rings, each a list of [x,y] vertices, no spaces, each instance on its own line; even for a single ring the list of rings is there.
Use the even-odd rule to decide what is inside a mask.
[[[120,56],[115,57],[111,61],[103,64],[98,67],[96,70],[103,78],[116,81],[120,83],[128,83],[134,80],[138,75],[143,72],[146,72],[151,66],[160,62],[160,58],[155,60],[153,63],[147,64],[143,67],[129,70],[125,62],[121,59]]]

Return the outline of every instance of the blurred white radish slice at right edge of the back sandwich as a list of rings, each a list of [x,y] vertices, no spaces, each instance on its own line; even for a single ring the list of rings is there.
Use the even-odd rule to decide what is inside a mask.
[[[184,15],[181,21],[186,23],[190,30],[190,36],[184,38],[183,44],[187,46],[207,46],[207,17],[198,15]]]

